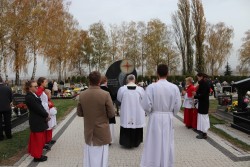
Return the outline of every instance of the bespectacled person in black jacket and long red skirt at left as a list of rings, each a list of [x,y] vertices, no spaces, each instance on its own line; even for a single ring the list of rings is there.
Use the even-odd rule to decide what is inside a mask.
[[[25,101],[29,109],[30,138],[28,152],[34,157],[35,162],[47,160],[47,156],[42,155],[45,145],[45,130],[48,129],[49,115],[43,108],[40,98],[36,96],[37,83],[28,81],[25,84]]]

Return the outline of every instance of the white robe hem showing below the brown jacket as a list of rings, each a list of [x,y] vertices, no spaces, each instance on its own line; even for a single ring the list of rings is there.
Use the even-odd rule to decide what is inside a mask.
[[[84,146],[84,167],[107,167],[108,166],[109,145]]]

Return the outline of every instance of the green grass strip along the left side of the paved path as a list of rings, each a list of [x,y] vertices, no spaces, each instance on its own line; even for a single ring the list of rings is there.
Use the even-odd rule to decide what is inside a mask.
[[[57,108],[57,122],[60,122],[77,105],[76,100],[53,100]],[[10,140],[0,141],[0,166],[13,165],[27,153],[29,129],[13,134]]]

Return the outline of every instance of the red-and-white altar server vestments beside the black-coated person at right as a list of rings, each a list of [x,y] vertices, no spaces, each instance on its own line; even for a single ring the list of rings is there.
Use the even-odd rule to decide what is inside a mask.
[[[193,92],[195,91],[195,87],[191,84],[186,88],[186,98],[189,98],[184,102],[184,124],[187,127],[192,127],[193,122],[193,105],[192,102]],[[185,104],[186,103],[186,104]]]

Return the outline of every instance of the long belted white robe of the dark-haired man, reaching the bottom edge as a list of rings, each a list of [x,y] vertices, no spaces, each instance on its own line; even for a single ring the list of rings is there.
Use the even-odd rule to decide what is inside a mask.
[[[178,87],[165,79],[149,85],[143,108],[149,114],[141,167],[172,167],[174,164],[173,115],[181,107]]]

